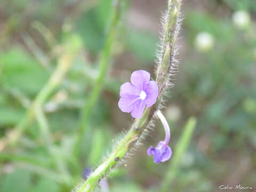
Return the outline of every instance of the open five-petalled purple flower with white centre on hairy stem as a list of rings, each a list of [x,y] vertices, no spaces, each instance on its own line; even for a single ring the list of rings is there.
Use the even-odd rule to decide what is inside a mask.
[[[121,85],[118,107],[132,117],[140,118],[145,106],[155,104],[158,96],[158,86],[155,81],[149,81],[150,74],[145,70],[134,71],[131,83]]]

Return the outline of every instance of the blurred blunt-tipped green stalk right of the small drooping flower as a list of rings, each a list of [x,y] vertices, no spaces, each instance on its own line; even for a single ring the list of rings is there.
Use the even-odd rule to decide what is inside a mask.
[[[192,137],[193,131],[196,126],[196,118],[190,117],[185,125],[184,131],[177,143],[177,147],[175,147],[175,151],[173,153],[173,157],[171,159],[169,168],[167,169],[167,174],[164,177],[161,186],[161,192],[167,192],[170,189],[170,184],[173,181],[175,175],[177,174],[177,170],[179,169],[180,160],[188,148],[190,139]]]

